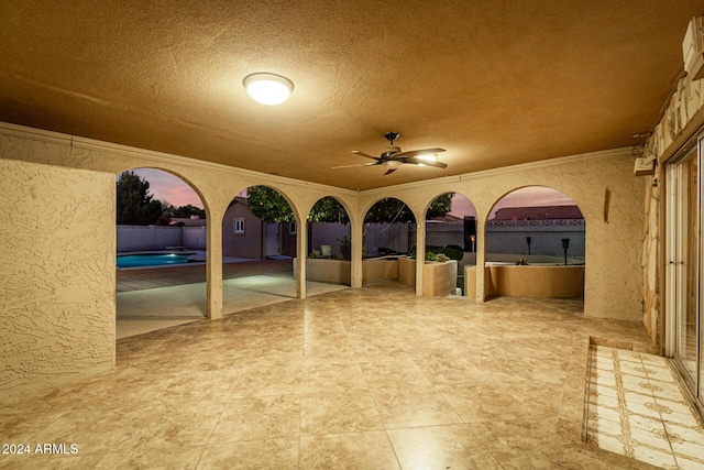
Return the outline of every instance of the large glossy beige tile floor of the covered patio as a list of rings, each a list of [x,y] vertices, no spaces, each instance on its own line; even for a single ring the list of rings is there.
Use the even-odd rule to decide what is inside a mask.
[[[32,452],[0,468],[651,468],[582,440],[590,337],[648,339],[581,308],[384,282],[125,338],[113,371],[2,398]]]

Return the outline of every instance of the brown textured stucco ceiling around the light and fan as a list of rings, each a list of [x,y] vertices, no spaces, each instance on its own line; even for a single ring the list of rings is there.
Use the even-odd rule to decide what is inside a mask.
[[[0,120],[352,189],[642,142],[704,0],[6,1]],[[253,72],[290,78],[278,107]],[[446,170],[381,166],[383,134]]]

